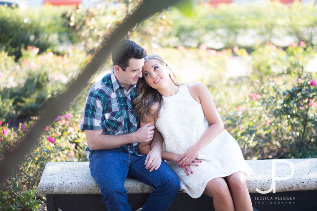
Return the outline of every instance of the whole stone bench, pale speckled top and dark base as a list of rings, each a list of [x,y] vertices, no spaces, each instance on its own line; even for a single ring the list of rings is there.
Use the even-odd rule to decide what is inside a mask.
[[[254,208],[259,211],[316,209],[317,158],[246,162],[256,175],[247,177]],[[272,171],[272,168],[275,168],[275,171]],[[152,187],[132,178],[126,179],[125,187],[128,203],[133,210],[142,207],[153,190]],[[269,189],[269,193],[259,193]],[[100,189],[90,175],[89,162],[47,163],[37,191],[46,195],[48,211],[107,210],[102,202]],[[212,198],[202,195],[193,199],[180,192],[169,210],[214,209]]]

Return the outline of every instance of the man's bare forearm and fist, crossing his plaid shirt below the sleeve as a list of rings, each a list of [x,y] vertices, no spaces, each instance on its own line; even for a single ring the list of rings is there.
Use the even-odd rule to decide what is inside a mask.
[[[153,138],[154,126],[147,123],[133,133],[120,135],[102,134],[102,130],[85,130],[87,145],[90,150],[114,149],[134,142],[148,142]],[[162,149],[161,149],[162,150]]]

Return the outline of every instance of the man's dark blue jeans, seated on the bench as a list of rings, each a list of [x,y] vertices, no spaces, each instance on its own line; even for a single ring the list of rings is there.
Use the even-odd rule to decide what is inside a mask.
[[[162,161],[158,170],[145,168],[146,156],[138,156],[124,149],[95,150],[90,157],[90,173],[99,185],[102,201],[109,211],[131,210],[127,202],[124,181],[135,178],[154,188],[142,211],[164,211],[173,202],[180,189],[176,173]]]

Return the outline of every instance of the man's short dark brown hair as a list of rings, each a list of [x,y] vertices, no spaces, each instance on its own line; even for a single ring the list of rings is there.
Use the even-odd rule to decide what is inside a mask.
[[[146,50],[132,40],[120,40],[112,50],[112,63],[119,65],[123,71],[129,66],[129,59],[142,59],[147,56]]]

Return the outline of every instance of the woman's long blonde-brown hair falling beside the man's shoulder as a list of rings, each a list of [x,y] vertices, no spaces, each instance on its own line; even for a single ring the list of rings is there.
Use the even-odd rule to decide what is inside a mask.
[[[157,61],[159,61],[159,63],[161,65],[165,65],[166,68],[168,69],[168,73],[169,73],[169,76],[170,76],[172,82],[175,85],[179,85],[179,83],[176,81],[175,73],[171,70],[170,66],[167,64],[166,60],[163,57],[161,57],[158,54],[149,54],[144,58],[144,62],[146,62],[150,59],[156,59]],[[138,91],[139,91],[140,95],[134,99],[133,104],[135,106],[135,111],[139,116],[139,120],[141,122],[146,122],[146,115],[152,116],[151,107],[155,103],[158,103],[159,108],[158,108],[156,114],[154,114],[154,120],[156,121],[158,116],[159,116],[159,112],[163,107],[162,95],[158,92],[158,90],[150,87],[146,83],[144,77],[140,78],[138,81]]]

